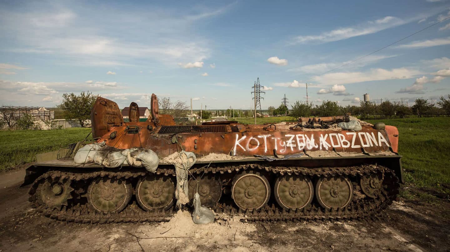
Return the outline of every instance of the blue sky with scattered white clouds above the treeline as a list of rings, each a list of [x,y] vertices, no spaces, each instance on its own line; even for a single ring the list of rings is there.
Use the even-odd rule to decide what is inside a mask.
[[[119,106],[152,93],[194,109],[289,102],[434,102],[450,93],[450,1],[0,1],[2,105],[92,91]]]

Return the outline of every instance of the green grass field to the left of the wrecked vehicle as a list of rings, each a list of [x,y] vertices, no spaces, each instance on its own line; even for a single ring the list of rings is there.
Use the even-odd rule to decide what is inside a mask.
[[[89,133],[90,128],[1,130],[0,172],[18,164],[34,162],[36,154],[82,141]]]

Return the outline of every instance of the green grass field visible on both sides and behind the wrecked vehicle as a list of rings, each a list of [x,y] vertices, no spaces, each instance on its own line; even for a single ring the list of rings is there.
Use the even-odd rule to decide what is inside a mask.
[[[252,124],[252,118],[235,118]],[[293,121],[293,117],[257,118],[258,124]],[[399,129],[405,181],[418,188],[450,193],[450,118],[406,118],[383,121]],[[83,140],[90,128],[0,131],[0,171],[35,161],[36,154]]]

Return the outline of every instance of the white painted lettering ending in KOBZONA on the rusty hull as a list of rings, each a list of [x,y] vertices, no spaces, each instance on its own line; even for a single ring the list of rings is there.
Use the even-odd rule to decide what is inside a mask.
[[[266,135],[235,134],[233,153],[296,153],[303,150],[354,149],[374,147],[379,150],[388,149],[390,144],[386,134],[381,131],[372,132],[308,132],[308,133],[275,133]],[[351,150],[349,150],[351,152]]]

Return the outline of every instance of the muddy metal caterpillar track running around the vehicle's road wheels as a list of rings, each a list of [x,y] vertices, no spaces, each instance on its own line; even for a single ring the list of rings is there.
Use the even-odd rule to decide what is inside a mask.
[[[376,199],[357,199],[353,197],[351,203],[344,209],[327,210],[321,208],[318,204],[313,203],[301,210],[286,211],[279,208],[275,204],[267,205],[257,211],[242,211],[238,209],[234,203],[220,204],[217,203],[213,210],[219,216],[222,214],[233,216],[240,214],[243,220],[248,221],[287,221],[287,220],[333,220],[333,219],[359,219],[376,216],[380,211],[386,208],[393,199],[396,198],[399,190],[399,181],[395,173],[386,167],[377,165],[361,165],[353,167],[333,167],[333,168],[302,168],[302,167],[274,167],[264,164],[240,164],[232,166],[216,166],[216,167],[202,167],[191,168],[189,171],[194,174],[202,173],[238,173],[244,170],[266,171],[279,175],[303,175],[310,176],[311,179],[317,177],[329,176],[348,176],[359,178],[358,176],[365,176],[371,173],[381,172],[383,174],[382,191]],[[156,174],[164,176],[175,176],[174,169],[157,169]],[[45,216],[57,219],[60,221],[74,221],[80,223],[113,223],[113,222],[146,222],[146,221],[169,221],[176,211],[175,207],[166,211],[151,211],[146,212],[142,210],[138,204],[133,201],[123,211],[118,213],[99,213],[88,207],[88,204],[69,204],[68,206],[61,206],[60,208],[47,208],[40,205],[36,199],[36,189],[39,183],[47,178],[68,180],[68,181],[82,181],[90,180],[98,177],[115,177],[117,179],[137,179],[143,176],[152,175],[147,172],[64,172],[64,171],[49,171],[36,179],[29,190],[29,201],[31,206],[36,208],[38,212],[42,212]],[[352,179],[354,181],[354,179]],[[354,188],[359,188],[356,182],[352,182]],[[361,190],[356,190],[361,192]],[[362,193],[362,192],[361,192]]]

